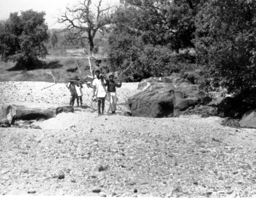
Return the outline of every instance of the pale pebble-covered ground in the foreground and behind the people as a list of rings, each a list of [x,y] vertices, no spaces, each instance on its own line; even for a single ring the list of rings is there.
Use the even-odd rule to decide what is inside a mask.
[[[65,85],[40,92],[51,84],[40,83],[0,83],[0,100],[66,105]],[[198,115],[122,116],[136,86],[118,91],[117,115],[97,116],[85,90],[87,108],[35,122],[41,129],[0,128],[0,195],[256,196],[256,129]]]

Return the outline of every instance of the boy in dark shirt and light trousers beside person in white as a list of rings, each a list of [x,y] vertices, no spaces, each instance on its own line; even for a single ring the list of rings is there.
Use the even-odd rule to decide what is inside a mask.
[[[108,77],[109,77],[109,80],[105,83],[105,86],[108,86],[107,92],[108,92],[109,108],[112,111],[112,114],[115,114],[116,102],[117,102],[115,87],[121,87],[122,80],[120,80],[120,83],[116,83],[114,81],[113,73],[111,73]]]

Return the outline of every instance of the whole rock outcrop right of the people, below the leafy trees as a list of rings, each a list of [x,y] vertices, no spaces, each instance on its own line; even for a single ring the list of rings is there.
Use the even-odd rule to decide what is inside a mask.
[[[128,104],[131,114],[138,117],[177,117],[198,101],[198,85],[176,74],[144,79],[137,89],[142,91],[130,97]]]

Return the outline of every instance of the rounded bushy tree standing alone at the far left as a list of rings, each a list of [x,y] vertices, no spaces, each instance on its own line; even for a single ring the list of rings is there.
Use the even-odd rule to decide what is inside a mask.
[[[48,26],[44,23],[44,12],[27,10],[11,13],[0,32],[0,57],[3,61],[18,62],[28,67],[39,57],[45,58]]]

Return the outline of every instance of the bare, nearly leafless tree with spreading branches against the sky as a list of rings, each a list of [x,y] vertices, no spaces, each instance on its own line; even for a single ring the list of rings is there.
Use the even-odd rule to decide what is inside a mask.
[[[95,12],[91,5],[92,0],[84,0],[73,7],[73,9],[66,7],[65,13],[61,14],[61,17],[58,18],[58,23],[67,24],[69,41],[80,40],[85,42],[87,40],[90,44],[90,52],[94,49],[94,36],[96,32],[99,31],[104,34],[113,16],[113,7],[101,8],[101,2],[102,0],[95,5],[96,14],[94,14]]]

